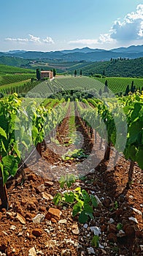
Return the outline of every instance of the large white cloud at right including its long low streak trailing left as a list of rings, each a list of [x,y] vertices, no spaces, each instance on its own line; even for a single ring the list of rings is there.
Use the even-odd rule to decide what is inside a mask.
[[[98,39],[77,39],[69,44],[101,45],[116,42],[135,42],[143,39],[143,4],[136,7],[136,12],[125,15],[125,18],[115,20],[112,28],[106,34],[100,34]]]

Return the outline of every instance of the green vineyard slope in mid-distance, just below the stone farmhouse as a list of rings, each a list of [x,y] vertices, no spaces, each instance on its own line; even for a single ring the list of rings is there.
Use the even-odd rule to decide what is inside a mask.
[[[38,97],[49,97],[50,94],[55,94],[58,91],[65,91],[69,89],[77,91],[89,90],[91,94],[99,97],[99,94],[104,95],[105,81],[107,80],[107,86],[112,96],[117,93],[125,93],[126,87],[129,85],[131,89],[131,83],[134,83],[136,89],[142,90],[143,79],[139,78],[88,78],[88,77],[72,77],[64,76],[58,77],[54,80],[34,81],[31,82],[28,79],[34,78],[34,74],[23,75],[5,75],[0,77],[0,92],[3,94],[29,94],[38,95]],[[21,81],[21,82],[20,82]],[[4,85],[2,86],[2,84]],[[93,91],[92,91],[93,90]],[[31,97],[31,96],[30,96]],[[34,96],[35,97],[35,96]],[[105,96],[106,97],[106,96]]]

